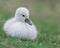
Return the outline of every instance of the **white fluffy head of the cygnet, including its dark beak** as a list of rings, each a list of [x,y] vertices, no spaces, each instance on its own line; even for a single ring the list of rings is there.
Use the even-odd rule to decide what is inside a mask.
[[[16,10],[15,17],[20,22],[28,23],[29,25],[32,25],[30,19],[29,19],[29,10],[24,7],[20,7]]]

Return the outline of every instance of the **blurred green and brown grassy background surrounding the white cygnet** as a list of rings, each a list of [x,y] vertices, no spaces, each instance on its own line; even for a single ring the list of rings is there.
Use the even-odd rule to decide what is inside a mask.
[[[4,22],[26,7],[39,31],[35,41],[7,37]],[[60,48],[60,0],[0,0],[0,48]]]

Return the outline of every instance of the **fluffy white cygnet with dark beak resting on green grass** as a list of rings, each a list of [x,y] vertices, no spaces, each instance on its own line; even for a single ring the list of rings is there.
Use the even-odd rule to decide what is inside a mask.
[[[36,27],[29,19],[29,10],[24,7],[16,10],[15,16],[5,22],[3,29],[11,37],[26,40],[35,40],[37,37]]]

